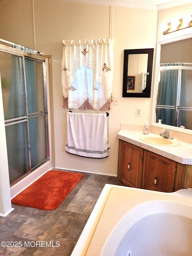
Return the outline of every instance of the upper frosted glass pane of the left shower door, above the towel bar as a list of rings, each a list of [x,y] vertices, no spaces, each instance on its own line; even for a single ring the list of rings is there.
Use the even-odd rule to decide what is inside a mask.
[[[4,119],[26,115],[22,57],[0,52]]]

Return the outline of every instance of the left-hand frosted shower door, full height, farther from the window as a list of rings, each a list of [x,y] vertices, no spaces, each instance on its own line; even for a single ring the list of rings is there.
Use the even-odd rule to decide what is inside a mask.
[[[11,184],[29,172],[29,144],[22,57],[0,52],[0,73]]]

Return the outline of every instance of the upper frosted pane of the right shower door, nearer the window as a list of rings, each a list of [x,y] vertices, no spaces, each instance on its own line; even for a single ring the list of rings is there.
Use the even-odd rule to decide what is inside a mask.
[[[43,64],[25,58],[25,69],[28,113],[44,111]]]

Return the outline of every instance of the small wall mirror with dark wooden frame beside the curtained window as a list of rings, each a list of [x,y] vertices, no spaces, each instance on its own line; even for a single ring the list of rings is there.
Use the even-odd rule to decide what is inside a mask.
[[[150,98],[153,48],[124,50],[123,97]]]

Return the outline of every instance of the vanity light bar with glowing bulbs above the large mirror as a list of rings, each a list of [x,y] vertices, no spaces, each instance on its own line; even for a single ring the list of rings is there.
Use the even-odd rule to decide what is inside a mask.
[[[182,19],[174,19],[170,23],[164,23],[161,25],[163,35],[178,31],[180,29],[186,29],[192,26],[192,15],[185,15]]]

